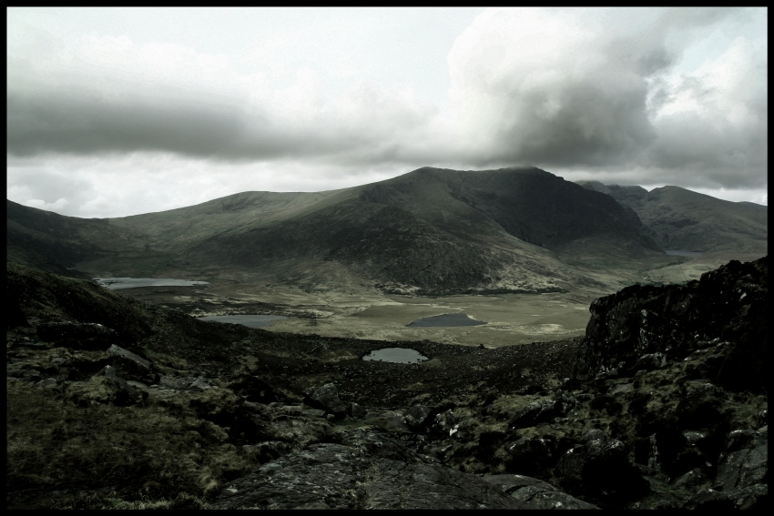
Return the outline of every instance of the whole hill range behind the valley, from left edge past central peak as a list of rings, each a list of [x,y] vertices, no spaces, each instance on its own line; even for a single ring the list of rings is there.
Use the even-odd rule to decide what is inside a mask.
[[[602,187],[612,193],[535,167],[423,167],[361,187],[243,192],[126,218],[70,218],[8,201],[7,250],[71,276],[260,275],[301,288],[440,295],[599,285],[601,273],[666,263],[665,242],[697,248],[683,246],[676,216],[659,211],[652,192]],[[703,206],[689,205],[685,217]]]

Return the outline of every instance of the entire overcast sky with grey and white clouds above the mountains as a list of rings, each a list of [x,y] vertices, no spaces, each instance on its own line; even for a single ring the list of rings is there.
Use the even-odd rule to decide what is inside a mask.
[[[8,198],[123,217],[517,165],[768,205],[766,8],[9,8]]]

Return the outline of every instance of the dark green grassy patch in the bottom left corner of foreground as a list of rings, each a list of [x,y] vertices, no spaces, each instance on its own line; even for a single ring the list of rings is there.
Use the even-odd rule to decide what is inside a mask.
[[[199,506],[255,466],[205,419],[208,400],[122,408],[12,381],[7,401],[6,488],[36,491],[25,509]]]

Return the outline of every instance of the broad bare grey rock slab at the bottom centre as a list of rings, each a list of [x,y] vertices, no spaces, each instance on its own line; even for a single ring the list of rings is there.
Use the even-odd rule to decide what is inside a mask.
[[[549,486],[550,487],[550,486]],[[219,509],[529,509],[494,482],[422,460],[368,431],[314,444],[232,481]],[[546,488],[543,489],[546,491]]]

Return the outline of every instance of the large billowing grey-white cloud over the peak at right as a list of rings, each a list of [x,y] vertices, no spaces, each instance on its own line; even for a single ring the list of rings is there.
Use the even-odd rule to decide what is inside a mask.
[[[639,169],[643,183],[677,174],[703,187],[763,186],[766,42],[761,31],[739,32],[762,13],[488,11],[450,55],[456,113],[466,136],[483,143],[466,150],[477,164]],[[707,41],[726,34],[724,53],[714,48],[693,68],[679,67],[696,59],[687,55],[692,37],[712,49]]]

